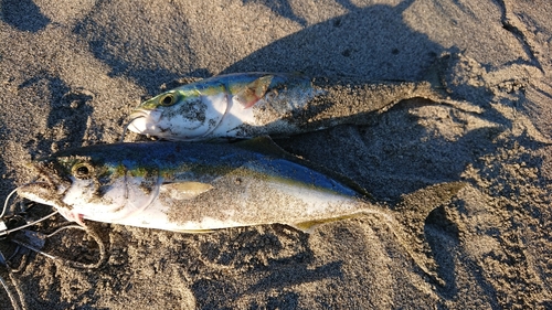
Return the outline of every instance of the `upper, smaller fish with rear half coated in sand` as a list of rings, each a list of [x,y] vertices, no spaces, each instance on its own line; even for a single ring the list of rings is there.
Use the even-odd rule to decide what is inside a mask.
[[[141,103],[125,128],[174,141],[284,137],[343,124],[367,125],[370,114],[403,99],[446,100],[425,81],[359,81],[298,73],[219,75]]]

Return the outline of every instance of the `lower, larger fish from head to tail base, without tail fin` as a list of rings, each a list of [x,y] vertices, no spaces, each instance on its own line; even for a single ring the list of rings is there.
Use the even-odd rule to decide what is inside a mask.
[[[259,140],[63,151],[35,161],[43,181],[19,188],[18,194],[53,205],[70,221],[178,232],[272,223],[308,229],[378,209],[354,185]]]

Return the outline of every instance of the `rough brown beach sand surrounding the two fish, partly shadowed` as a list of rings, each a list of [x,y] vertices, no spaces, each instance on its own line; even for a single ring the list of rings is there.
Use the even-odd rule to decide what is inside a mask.
[[[550,17],[545,0],[0,1],[2,199],[32,179],[26,161],[117,141],[131,108],[182,76],[431,74],[463,103],[403,100],[370,125],[277,140],[389,205],[421,190],[438,207],[406,203],[401,221],[425,218],[442,281],[370,216],[311,235],[91,223],[99,268],[30,255],[1,275],[26,309],[552,309]],[[423,190],[450,181],[468,184],[452,201]],[[67,231],[44,249],[87,245]]]

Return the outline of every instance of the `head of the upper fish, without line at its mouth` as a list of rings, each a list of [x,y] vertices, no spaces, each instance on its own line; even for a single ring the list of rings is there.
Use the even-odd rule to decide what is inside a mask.
[[[216,128],[227,107],[223,84],[184,85],[141,103],[128,129],[166,140],[195,140]]]

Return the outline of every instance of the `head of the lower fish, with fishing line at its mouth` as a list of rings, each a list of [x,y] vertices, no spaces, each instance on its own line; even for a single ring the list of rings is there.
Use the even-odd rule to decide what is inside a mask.
[[[124,153],[109,159],[98,147],[33,161],[39,178],[20,186],[18,195],[52,205],[75,222],[115,223],[147,207],[159,192],[158,170],[121,160]]]

